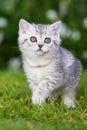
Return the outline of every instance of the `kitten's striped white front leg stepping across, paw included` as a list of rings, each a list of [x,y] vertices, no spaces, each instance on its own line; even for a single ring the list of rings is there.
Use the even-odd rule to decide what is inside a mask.
[[[58,84],[58,83],[57,83]],[[56,89],[56,82],[53,81],[42,81],[37,89],[33,92],[32,102],[34,104],[42,105],[47,97],[50,96],[51,92]]]

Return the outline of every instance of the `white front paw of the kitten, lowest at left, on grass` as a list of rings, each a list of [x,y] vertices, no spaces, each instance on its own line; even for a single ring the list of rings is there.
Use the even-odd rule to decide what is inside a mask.
[[[35,105],[39,105],[41,106],[45,101],[45,97],[43,97],[42,95],[39,95],[39,94],[34,94],[32,96],[32,102],[35,104]]]

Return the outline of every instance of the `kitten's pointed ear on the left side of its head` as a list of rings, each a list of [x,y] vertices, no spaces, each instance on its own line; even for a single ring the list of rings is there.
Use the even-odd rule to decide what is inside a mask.
[[[30,23],[28,23],[26,20],[21,19],[19,21],[19,33],[26,34],[27,31],[30,30],[31,26],[32,25]]]

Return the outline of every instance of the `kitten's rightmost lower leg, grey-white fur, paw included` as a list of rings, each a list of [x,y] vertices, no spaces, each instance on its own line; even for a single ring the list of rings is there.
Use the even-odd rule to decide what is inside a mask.
[[[63,91],[64,104],[67,107],[75,108],[76,89],[75,87],[67,87]]]

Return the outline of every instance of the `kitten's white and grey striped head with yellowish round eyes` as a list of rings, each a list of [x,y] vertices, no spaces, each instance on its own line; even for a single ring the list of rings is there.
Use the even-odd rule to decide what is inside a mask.
[[[61,21],[51,25],[30,24],[21,19],[19,21],[19,47],[22,53],[32,52],[43,55],[55,51],[61,39]]]

